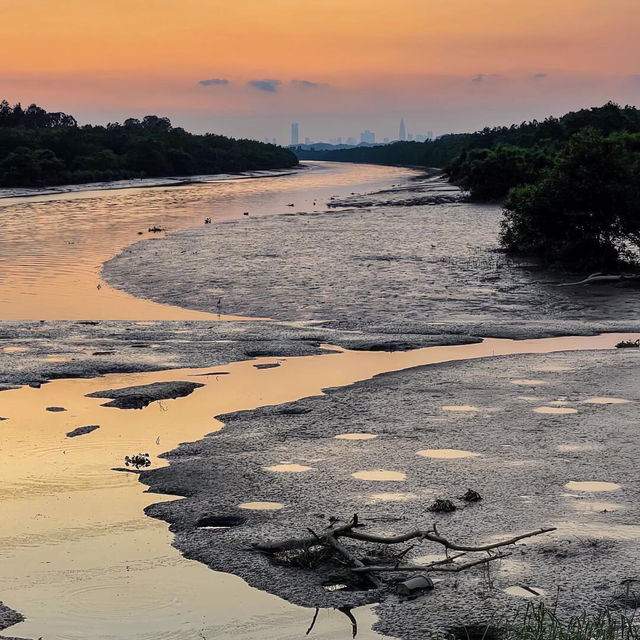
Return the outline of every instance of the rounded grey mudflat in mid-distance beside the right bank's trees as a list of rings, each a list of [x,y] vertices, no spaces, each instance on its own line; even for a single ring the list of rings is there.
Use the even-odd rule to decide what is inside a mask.
[[[496,251],[498,206],[407,203],[415,184],[394,190],[393,206],[389,193],[360,196],[365,208],[353,196],[338,202],[348,209],[248,218],[141,242],[107,262],[103,276],[156,302],[364,332],[419,333],[448,323],[497,335],[506,324],[558,330],[557,323],[637,321],[640,289],[558,287],[580,278]],[[421,198],[430,190],[455,196],[437,178],[421,189]]]

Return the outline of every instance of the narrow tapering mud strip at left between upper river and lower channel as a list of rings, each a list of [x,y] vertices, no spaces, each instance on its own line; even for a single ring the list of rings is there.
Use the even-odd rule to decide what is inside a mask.
[[[0,391],[59,378],[327,353],[323,344],[398,351],[477,341],[441,326],[423,327],[421,333],[389,327],[364,334],[276,322],[3,322]]]

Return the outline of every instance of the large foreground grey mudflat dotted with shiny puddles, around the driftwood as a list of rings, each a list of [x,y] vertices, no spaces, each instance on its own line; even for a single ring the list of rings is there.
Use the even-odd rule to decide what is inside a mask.
[[[152,505],[147,513],[170,523],[175,545],[187,557],[296,604],[381,600],[376,628],[394,637],[426,637],[458,624],[486,623],[496,611],[511,615],[523,604],[513,590],[504,591],[514,586],[541,589],[550,602],[559,590],[562,615],[607,604],[624,591],[623,580],[640,579],[639,357],[631,350],[565,352],[433,365],[289,405],[222,416],[222,431],[181,445],[166,454],[168,467],[142,474],[152,491],[185,496]],[[542,384],[518,384],[534,377]],[[602,395],[631,402],[587,402]],[[535,413],[543,405],[577,413]],[[443,410],[451,406],[472,410]],[[361,432],[377,437],[337,438]],[[421,454],[443,449],[477,455]],[[285,463],[310,469],[270,470]],[[362,480],[362,471],[396,475]],[[607,484],[595,485],[597,491],[593,485],[576,490],[571,487],[580,484],[568,484],[583,482]],[[458,497],[467,488],[483,499],[464,506]],[[429,513],[438,498],[464,508]],[[253,501],[282,508],[238,506]],[[322,529],[332,516],[349,518],[356,512],[370,532],[397,534],[436,522],[442,535],[463,543],[540,526],[558,530],[512,548],[489,574],[482,568],[457,576],[434,574],[442,579],[435,590],[409,602],[393,595],[391,586],[382,596],[327,591],[323,583],[344,582],[345,576],[274,566],[251,550],[255,542],[304,536],[307,528]],[[206,518],[225,518],[234,526],[199,526]],[[407,560],[425,554],[442,557],[438,545],[422,544],[409,551]]]

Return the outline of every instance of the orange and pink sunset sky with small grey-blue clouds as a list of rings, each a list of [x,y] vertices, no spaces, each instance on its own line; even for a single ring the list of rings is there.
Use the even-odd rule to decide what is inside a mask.
[[[640,103],[638,0],[0,0],[1,96],[276,137]]]

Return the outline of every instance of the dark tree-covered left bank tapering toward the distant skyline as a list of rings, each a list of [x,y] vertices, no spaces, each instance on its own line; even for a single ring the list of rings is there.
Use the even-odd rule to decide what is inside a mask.
[[[0,102],[0,187],[42,187],[130,178],[292,167],[272,144],[194,135],[168,118],[78,126],[73,116]]]

